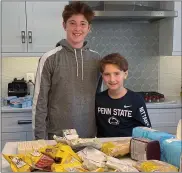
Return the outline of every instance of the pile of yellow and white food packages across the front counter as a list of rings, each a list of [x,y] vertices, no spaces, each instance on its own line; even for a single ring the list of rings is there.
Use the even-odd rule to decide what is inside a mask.
[[[3,156],[14,172],[178,172],[177,167],[159,161],[157,140],[132,137],[101,143],[98,138],[79,138],[75,129],[53,138],[52,145],[44,140],[19,142],[17,155]]]

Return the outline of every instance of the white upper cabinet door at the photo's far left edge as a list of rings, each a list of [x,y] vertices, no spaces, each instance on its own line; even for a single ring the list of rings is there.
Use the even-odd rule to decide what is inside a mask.
[[[25,2],[2,2],[2,52],[27,52]]]

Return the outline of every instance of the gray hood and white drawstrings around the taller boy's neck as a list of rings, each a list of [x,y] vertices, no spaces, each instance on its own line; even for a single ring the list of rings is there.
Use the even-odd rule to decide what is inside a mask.
[[[79,63],[78,63],[78,56],[77,56],[77,50],[80,50],[81,52],[81,71],[82,71],[82,80],[83,80],[83,50],[88,50],[89,47],[88,47],[88,44],[87,44],[87,41],[84,41],[83,43],[83,47],[82,48],[73,48],[66,39],[62,39],[60,40],[57,44],[56,44],[56,47],[58,46],[62,46],[64,47],[66,50],[68,51],[71,51],[71,52],[74,52],[74,55],[75,55],[75,61],[76,61],[76,75],[78,77],[78,71],[79,71]]]

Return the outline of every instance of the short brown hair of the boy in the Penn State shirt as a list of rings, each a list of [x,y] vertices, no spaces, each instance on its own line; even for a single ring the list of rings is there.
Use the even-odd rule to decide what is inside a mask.
[[[101,73],[104,72],[105,65],[107,64],[116,65],[121,71],[124,71],[124,72],[128,70],[128,61],[119,53],[112,53],[112,54],[106,55],[103,59],[101,59],[100,61]]]

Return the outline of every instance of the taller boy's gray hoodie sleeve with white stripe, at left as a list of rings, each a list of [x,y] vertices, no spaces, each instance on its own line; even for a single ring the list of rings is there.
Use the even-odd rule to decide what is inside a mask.
[[[51,86],[50,66],[43,56],[39,60],[32,105],[32,127],[35,139],[46,139],[48,94]]]

